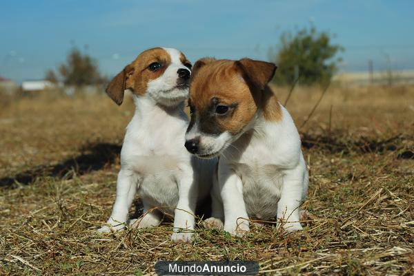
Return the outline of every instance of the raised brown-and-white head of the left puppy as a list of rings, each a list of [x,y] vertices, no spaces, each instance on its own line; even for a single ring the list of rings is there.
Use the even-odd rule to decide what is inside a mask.
[[[139,54],[126,65],[106,88],[118,105],[129,89],[139,96],[148,96],[157,103],[174,106],[188,98],[191,63],[183,53],[172,48],[152,48]]]

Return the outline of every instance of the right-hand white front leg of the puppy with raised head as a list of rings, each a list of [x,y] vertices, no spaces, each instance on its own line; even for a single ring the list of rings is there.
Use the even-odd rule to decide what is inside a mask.
[[[195,224],[198,187],[192,167],[184,167],[181,171],[181,179],[178,181],[179,200],[175,209],[174,233],[171,235],[171,240],[190,242]]]

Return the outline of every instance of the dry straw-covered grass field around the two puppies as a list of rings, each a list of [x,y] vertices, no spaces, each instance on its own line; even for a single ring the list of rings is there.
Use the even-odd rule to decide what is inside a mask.
[[[275,87],[282,103],[288,90]],[[304,231],[267,225],[237,238],[200,226],[191,244],[171,242],[170,223],[95,231],[115,200],[131,100],[3,100],[0,275],[146,275],[159,259],[256,260],[267,275],[412,275],[414,87],[329,87],[311,112],[321,94],[297,87],[287,103],[311,170]]]

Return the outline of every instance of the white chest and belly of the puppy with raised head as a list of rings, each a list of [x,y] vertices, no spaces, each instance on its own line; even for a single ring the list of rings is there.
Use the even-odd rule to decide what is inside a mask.
[[[186,123],[166,116],[164,120],[157,116],[152,119],[132,118],[121,151],[121,165],[139,175],[137,189],[145,202],[174,208],[179,199],[180,167],[190,164],[190,155],[184,148]]]

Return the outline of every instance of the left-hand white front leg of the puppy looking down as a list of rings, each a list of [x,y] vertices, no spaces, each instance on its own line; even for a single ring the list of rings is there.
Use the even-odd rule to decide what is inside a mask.
[[[219,186],[224,206],[224,230],[241,237],[249,231],[248,215],[243,199],[243,182],[225,162],[220,161]]]

